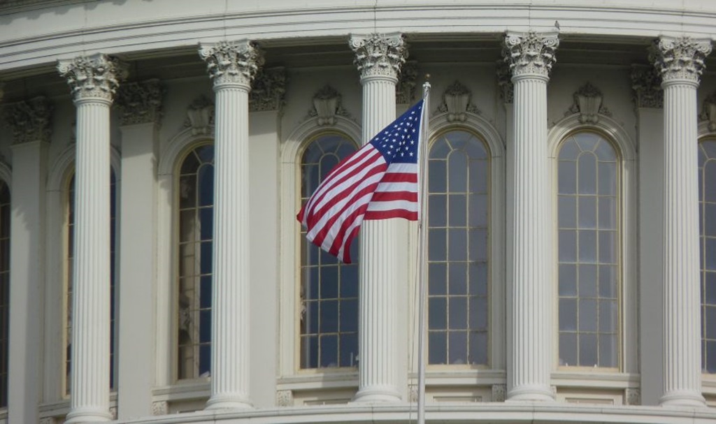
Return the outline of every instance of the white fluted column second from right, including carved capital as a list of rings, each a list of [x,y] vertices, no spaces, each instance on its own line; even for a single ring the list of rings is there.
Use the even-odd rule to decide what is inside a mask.
[[[543,195],[547,181],[547,82],[559,44],[556,33],[505,35],[514,85],[513,140],[508,144],[508,400],[553,400],[551,260]]]

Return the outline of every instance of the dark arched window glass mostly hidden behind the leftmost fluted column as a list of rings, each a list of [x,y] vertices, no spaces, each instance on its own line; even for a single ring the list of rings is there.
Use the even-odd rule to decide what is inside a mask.
[[[67,317],[65,317],[65,391],[69,394],[70,389],[70,369],[72,368],[72,276],[74,275],[74,171],[69,177],[66,188],[66,205],[67,205]],[[115,381],[115,371],[117,369],[117,360],[115,352],[117,351],[117,322],[115,320],[117,310],[117,295],[115,293],[116,280],[116,261],[117,252],[117,182],[115,172],[110,172],[110,388],[117,388]]]

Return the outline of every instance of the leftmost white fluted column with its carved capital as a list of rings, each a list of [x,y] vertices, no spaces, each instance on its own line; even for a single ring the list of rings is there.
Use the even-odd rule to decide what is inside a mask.
[[[72,368],[66,423],[110,415],[110,105],[124,70],[103,54],[59,61],[77,107]]]

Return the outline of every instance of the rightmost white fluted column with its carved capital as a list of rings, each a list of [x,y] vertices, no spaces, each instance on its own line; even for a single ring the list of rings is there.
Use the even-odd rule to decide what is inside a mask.
[[[668,406],[705,406],[701,395],[696,89],[709,40],[662,36],[652,49],[664,89],[664,392]]]

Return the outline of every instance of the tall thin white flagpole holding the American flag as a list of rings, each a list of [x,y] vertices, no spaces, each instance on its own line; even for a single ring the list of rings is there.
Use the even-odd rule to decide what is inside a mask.
[[[430,107],[430,74],[425,75],[425,84],[422,84],[422,134],[420,134],[420,220],[418,220],[418,252],[417,252],[417,424],[425,424],[425,267],[427,267],[427,136],[428,108]]]

